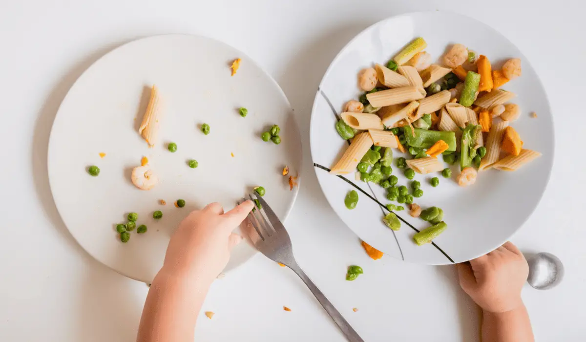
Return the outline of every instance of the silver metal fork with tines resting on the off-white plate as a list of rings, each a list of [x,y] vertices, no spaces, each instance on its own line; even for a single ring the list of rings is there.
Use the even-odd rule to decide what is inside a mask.
[[[252,195],[248,195],[250,199],[253,199]],[[342,333],[346,335],[346,338],[350,342],[364,342],[364,340],[358,336],[356,331],[350,326],[350,324],[344,319],[342,314],[332,305],[332,303],[323,295],[323,293],[315,286],[314,282],[303,272],[301,267],[297,265],[297,261],[293,256],[293,250],[291,248],[291,239],[285,227],[279,221],[277,215],[272,211],[271,207],[267,202],[260,196],[254,194],[254,197],[260,202],[260,208],[254,204],[255,210],[248,214],[248,223],[243,224],[243,231],[248,235],[250,241],[254,244],[255,248],[263,253],[267,258],[284,264],[293,270],[303,280],[305,285],[309,287],[309,290],[314,294],[315,298],[322,304],[323,309],[332,317],[333,321],[338,325]],[[265,219],[262,212],[268,218]],[[246,221],[245,221],[246,222]],[[254,229],[251,229],[252,226]]]

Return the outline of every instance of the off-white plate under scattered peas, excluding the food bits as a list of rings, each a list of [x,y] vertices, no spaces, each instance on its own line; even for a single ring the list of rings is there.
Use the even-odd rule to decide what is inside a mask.
[[[230,63],[240,57],[236,76]],[[150,87],[165,101],[159,143],[148,148],[137,128]],[[248,109],[241,117],[239,107]],[[208,123],[205,136],[199,125]],[[260,134],[281,127],[282,143]],[[167,143],[178,145],[176,153]],[[101,159],[99,153],[106,156]],[[232,157],[231,154],[234,154]],[[160,178],[151,191],[135,188],[133,167],[147,156]],[[199,167],[189,168],[196,159]],[[103,56],[71,87],[53,124],[49,180],[69,231],[90,255],[122,275],[151,282],[162,265],[169,236],[190,211],[220,202],[226,210],[256,185],[281,219],[287,218],[298,187],[289,191],[284,165],[301,170],[301,140],[292,109],[277,83],[244,53],[216,40],[162,35],[136,40]],[[88,165],[100,175],[87,174]],[[175,208],[176,199],[184,208]],[[167,204],[159,205],[159,199]],[[152,213],[163,212],[155,221]],[[121,243],[115,224],[137,212],[148,232]],[[241,243],[227,270],[254,249]]]

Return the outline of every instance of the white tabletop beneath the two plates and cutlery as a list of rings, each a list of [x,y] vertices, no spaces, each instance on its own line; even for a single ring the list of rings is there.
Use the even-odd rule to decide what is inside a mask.
[[[298,115],[305,154],[301,191],[287,220],[295,253],[364,340],[478,340],[478,311],[459,289],[454,267],[369,259],[326,204],[309,156],[315,90],[342,46],[380,19],[440,9],[504,33],[544,82],[556,116],[553,176],[512,241],[523,252],[554,253],[566,267],[556,289],[523,290],[537,340],[584,341],[586,178],[578,170],[586,167],[579,153],[586,130],[583,106],[574,104],[586,96],[586,8],[572,5],[577,3],[0,1],[0,340],[134,341],[148,287],[96,262],[73,240],[50,193],[47,141],[60,102],[91,63],[122,43],[157,33],[220,39],[281,85]],[[346,282],[352,264],[362,265],[365,274]],[[202,313],[200,341],[344,341],[302,282],[261,255],[216,281],[203,310],[216,316],[209,320]]]

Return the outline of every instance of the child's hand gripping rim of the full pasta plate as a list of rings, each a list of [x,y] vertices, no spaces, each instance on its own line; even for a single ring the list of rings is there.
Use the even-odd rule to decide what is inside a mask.
[[[483,310],[502,313],[522,304],[529,266],[513,243],[507,241],[487,255],[456,266],[460,286]]]

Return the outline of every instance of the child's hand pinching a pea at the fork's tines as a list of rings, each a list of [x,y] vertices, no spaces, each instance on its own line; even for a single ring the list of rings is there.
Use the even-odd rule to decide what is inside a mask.
[[[162,272],[212,283],[226,267],[232,248],[242,239],[232,233],[233,229],[253,207],[252,201],[246,201],[224,214],[222,205],[212,203],[192,211],[171,236]]]

